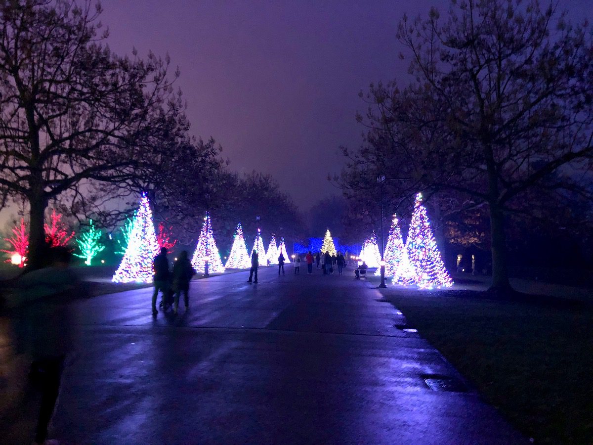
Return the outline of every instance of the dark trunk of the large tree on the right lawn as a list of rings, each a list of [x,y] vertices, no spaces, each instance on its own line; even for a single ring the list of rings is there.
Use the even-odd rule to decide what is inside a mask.
[[[504,215],[498,204],[490,204],[490,236],[492,238],[492,286],[496,293],[511,292],[506,256]]]

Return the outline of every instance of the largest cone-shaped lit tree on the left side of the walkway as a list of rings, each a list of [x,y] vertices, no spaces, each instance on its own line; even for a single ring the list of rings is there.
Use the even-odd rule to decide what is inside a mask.
[[[135,214],[132,232],[122,262],[111,281],[116,283],[152,282],[152,261],[158,254],[157,236],[152,223],[152,211],[146,195],[142,195]]]

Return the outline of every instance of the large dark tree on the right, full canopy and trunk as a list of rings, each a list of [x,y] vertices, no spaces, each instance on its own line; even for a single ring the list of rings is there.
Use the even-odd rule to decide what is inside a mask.
[[[398,38],[415,81],[371,85],[342,185],[368,193],[384,174],[394,199],[425,190],[486,212],[493,288],[508,290],[506,218],[592,190],[591,33],[537,1],[467,0],[444,18],[404,17]]]

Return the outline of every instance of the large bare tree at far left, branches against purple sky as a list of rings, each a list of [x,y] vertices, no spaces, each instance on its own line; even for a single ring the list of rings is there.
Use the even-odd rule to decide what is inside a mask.
[[[82,202],[100,182],[138,183],[158,171],[163,141],[187,130],[168,58],[111,53],[100,12],[72,0],[0,2],[0,208],[28,202],[33,268],[50,200],[69,192]]]

